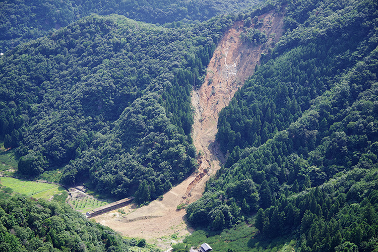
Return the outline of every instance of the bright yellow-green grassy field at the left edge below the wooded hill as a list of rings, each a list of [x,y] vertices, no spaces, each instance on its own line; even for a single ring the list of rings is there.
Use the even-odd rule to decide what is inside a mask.
[[[50,200],[54,195],[64,194],[65,188],[56,184],[26,181],[12,177],[0,178],[3,186],[12,188],[13,192],[33,198]]]

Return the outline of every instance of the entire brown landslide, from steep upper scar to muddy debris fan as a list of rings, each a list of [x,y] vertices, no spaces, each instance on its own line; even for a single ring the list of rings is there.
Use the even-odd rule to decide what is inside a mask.
[[[177,210],[179,204],[198,200],[209,177],[220,169],[223,154],[215,142],[219,111],[228,105],[234,93],[244,81],[253,75],[261,54],[274,46],[283,32],[283,15],[274,12],[259,17],[269,41],[252,45],[242,41],[240,33],[243,21],[236,22],[224,34],[207,68],[204,84],[192,92],[192,104],[196,110],[193,125],[193,141],[197,148],[199,168],[190,177],[174,186],[163,200],[148,206],[128,206],[121,211],[112,211],[94,219],[128,237],[146,238],[162,249],[170,247],[173,233],[183,236],[190,233],[185,222],[185,210]],[[125,214],[121,214],[125,212]],[[166,238],[162,238],[166,237]]]

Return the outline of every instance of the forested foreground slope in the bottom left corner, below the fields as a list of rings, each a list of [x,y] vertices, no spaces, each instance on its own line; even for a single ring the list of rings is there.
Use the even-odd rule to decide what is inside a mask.
[[[88,221],[66,204],[20,195],[10,197],[3,191],[0,195],[3,252],[129,251],[129,246],[136,244],[135,240],[133,243],[122,239],[109,228]]]

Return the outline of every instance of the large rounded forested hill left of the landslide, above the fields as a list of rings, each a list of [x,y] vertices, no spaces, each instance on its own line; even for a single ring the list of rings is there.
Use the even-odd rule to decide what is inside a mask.
[[[5,147],[19,146],[19,172],[65,166],[62,182],[89,178],[116,197],[146,180],[156,193],[142,202],[182,180],[196,167],[190,90],[201,85],[211,37],[230,20],[187,30],[91,16],[8,51],[0,127]],[[165,102],[173,87],[185,90],[175,106]]]

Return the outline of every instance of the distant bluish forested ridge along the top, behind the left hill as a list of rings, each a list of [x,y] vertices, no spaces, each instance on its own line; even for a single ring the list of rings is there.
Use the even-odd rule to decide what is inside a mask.
[[[5,0],[0,3],[0,52],[91,14],[118,14],[147,23],[181,26],[250,8],[259,0]]]

